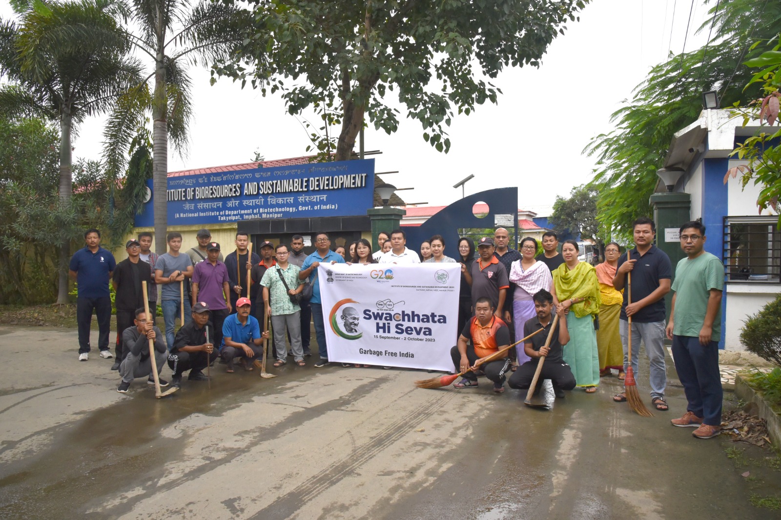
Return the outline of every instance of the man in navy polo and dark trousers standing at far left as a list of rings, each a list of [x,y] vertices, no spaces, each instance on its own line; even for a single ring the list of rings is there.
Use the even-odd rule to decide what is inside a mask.
[[[87,361],[90,351],[90,322],[92,312],[98,316],[98,349],[100,357],[112,358],[109,351],[111,328],[111,296],[109,279],[116,268],[114,255],[100,247],[100,231],[84,233],[87,247],[76,251],[70,259],[68,274],[76,280],[76,322],[79,327],[79,361]]]

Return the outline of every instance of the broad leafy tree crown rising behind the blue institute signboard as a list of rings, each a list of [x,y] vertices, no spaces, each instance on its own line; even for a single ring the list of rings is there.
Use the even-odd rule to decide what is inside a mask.
[[[332,150],[337,161],[351,158],[367,113],[376,129],[398,129],[388,91],[422,123],[423,139],[447,152],[445,127],[455,113],[469,115],[501,94],[480,77],[539,66],[586,2],[251,0],[241,52],[217,62],[212,75],[242,87],[249,80],[263,95],[280,91],[291,114],[315,109],[325,135],[311,137],[327,158]],[[288,78],[305,82],[287,87]],[[332,125],[341,125],[338,137],[329,134]]]

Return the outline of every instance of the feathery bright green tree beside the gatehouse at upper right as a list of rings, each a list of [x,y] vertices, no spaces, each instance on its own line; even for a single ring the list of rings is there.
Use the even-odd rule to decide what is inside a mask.
[[[700,115],[702,92],[719,91],[721,106],[754,98],[743,92],[751,72],[742,63],[761,54],[761,48],[751,48],[754,39],[769,39],[781,30],[781,2],[718,2],[710,14],[700,27],[713,27],[708,45],[651,69],[631,101],[612,114],[616,129],[594,137],[584,150],[598,159],[590,183],[599,191],[597,218],[615,235],[629,239],[632,221],[651,214],[648,197],[657,183],[656,170],[673,134]]]

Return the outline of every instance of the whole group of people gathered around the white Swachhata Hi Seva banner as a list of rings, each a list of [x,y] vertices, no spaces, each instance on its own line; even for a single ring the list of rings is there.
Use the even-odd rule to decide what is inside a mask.
[[[528,389],[540,357],[545,356],[540,383],[551,379],[557,397],[575,387],[591,394],[600,377],[611,375],[613,370],[623,379],[629,363],[639,375],[642,341],[650,362],[651,404],[666,411],[667,337],[672,340],[676,369],[689,401],[686,415],[672,423],[696,426],[695,436],[709,438],[718,431],[721,417],[717,349],[723,267],[718,258],[703,250],[704,226],[685,223],[680,237],[686,258],[677,265],[676,282],[671,284],[672,265],[654,246],[655,231],[651,219],[637,219],[633,223],[634,248],[621,254],[619,244],[611,242],[604,248],[604,262],[594,267],[579,260],[575,240],[565,240],[559,252],[558,237],[550,231],[542,237],[540,254],[533,237],[523,238],[520,251],[516,251],[509,247],[508,230],[498,228],[494,237],[483,237],[477,244],[469,237],[459,239],[456,258],[444,255],[445,242],[440,235],[427,240],[418,255],[406,247],[406,234],[401,229],[379,233],[380,249],[374,252],[366,239],[342,251],[332,250],[328,233],[316,233],[316,249],[310,255],[303,251],[300,235],[292,237],[289,246],[264,241],[260,255],[250,253],[249,237],[240,232],[235,237],[236,250],[224,258],[209,230],[198,232],[198,246],[186,254],[180,251],[181,234],[168,233],[168,251],[159,256],[150,251],[152,233],[140,233],[137,239],[127,241],[127,259],[117,264],[112,254],[100,247],[100,232],[88,230],[84,234],[86,247],[70,262],[70,275],[78,284],[79,360],[86,361],[91,349],[93,311],[98,316],[100,355],[112,358],[109,278],[116,291],[118,330],[112,369],[119,370],[122,382],[117,390],[124,393],[135,377],[148,376],[152,368],[149,342],[161,354],[158,369],[167,362],[175,385],[181,384],[187,371],[190,380],[206,380],[203,370],[217,358],[226,363],[226,372],[234,372],[234,362],[252,370],[262,355],[263,340],[273,341],[275,367],[287,363],[288,340],[294,362],[306,365],[304,358],[312,355],[310,320],[319,347],[319,361],[314,366],[330,365],[316,270],[321,262],[458,262],[462,273],[460,333],[451,358],[456,372],[470,367],[475,371],[466,372],[456,388],[476,387],[477,376],[484,374],[497,393],[504,391],[505,382],[511,388]],[[145,299],[141,281],[148,285]],[[165,344],[154,323],[157,286],[161,286]],[[665,325],[664,297],[670,290],[676,294]],[[178,315],[184,316],[184,323],[174,333]],[[558,322],[551,333],[554,315],[558,315]],[[490,354],[539,329],[544,332],[483,365]],[[545,346],[549,333],[551,341]],[[630,333],[636,346],[631,359],[627,349]],[[160,384],[169,383],[161,380]],[[626,401],[626,394],[615,395],[613,401]]]

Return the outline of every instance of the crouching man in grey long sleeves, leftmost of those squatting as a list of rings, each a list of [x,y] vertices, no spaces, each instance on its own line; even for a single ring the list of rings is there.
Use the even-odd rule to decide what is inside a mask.
[[[122,332],[122,348],[125,358],[119,364],[119,376],[122,383],[116,389],[119,394],[127,394],[130,383],[137,377],[147,377],[147,383],[155,384],[152,376],[152,357],[149,355],[149,340],[155,344],[155,362],[158,374],[166,362],[166,342],[163,341],[160,329],[152,326],[143,308],[136,309],[134,325]],[[168,381],[160,379],[160,386],[168,386]]]

